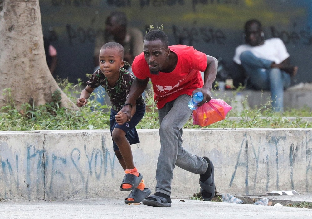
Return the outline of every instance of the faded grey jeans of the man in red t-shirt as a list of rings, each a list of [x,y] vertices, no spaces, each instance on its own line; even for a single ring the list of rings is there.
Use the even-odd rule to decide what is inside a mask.
[[[208,168],[205,159],[182,147],[182,127],[192,115],[188,107],[190,99],[186,94],[181,95],[158,110],[160,152],[156,169],[156,192],[169,196],[175,166],[195,174],[204,174]]]

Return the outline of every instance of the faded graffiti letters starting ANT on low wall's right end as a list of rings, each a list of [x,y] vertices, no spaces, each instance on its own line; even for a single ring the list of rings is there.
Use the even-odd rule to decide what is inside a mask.
[[[301,175],[300,177],[305,178],[305,191],[309,192],[312,185],[312,138],[308,138],[305,140],[305,142],[298,142],[296,145],[291,143],[289,145],[289,150],[286,150],[287,147],[285,149],[285,153],[289,153],[288,160],[283,159],[282,161],[280,161],[279,157],[281,156],[281,150],[283,150],[283,146],[285,147],[285,142],[287,142],[286,136],[266,136],[265,138],[269,140],[267,142],[268,144],[264,146],[260,143],[261,139],[259,139],[259,144],[255,144],[251,139],[251,136],[247,136],[246,134],[244,135],[240,150],[237,154],[236,164],[229,183],[229,187],[233,185],[235,178],[237,177],[237,170],[242,168],[245,170],[245,193],[249,194],[250,191],[254,191],[256,185],[259,184],[257,181],[263,177],[263,174],[259,177],[259,170],[261,168],[262,172],[265,172],[266,175],[266,192],[268,192],[270,181],[275,183],[275,185],[271,184],[271,187],[279,190],[281,189],[279,185],[280,181],[287,182],[288,179],[290,180],[291,189],[294,190],[295,183],[293,169],[296,165],[296,161],[299,159],[298,156],[300,156],[302,152],[305,152],[305,161],[302,162],[301,160],[298,162],[300,163],[300,168],[305,169],[305,175]],[[265,147],[266,150],[262,149],[263,147]],[[287,179],[280,179],[280,169],[285,170],[284,167],[279,167],[280,164],[282,164],[284,167],[289,167],[289,175],[287,176]],[[303,164],[304,166],[302,166]],[[296,167],[298,168],[298,166]],[[253,179],[252,183],[250,183],[250,179]],[[250,188],[250,184],[253,185],[253,188]]]

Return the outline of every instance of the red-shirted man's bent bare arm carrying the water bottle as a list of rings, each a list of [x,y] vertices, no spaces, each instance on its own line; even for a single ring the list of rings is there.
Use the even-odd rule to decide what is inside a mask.
[[[218,60],[215,57],[212,57],[210,55],[207,56],[207,67],[204,71],[204,85],[202,88],[197,88],[193,91],[192,95],[196,92],[202,92],[204,95],[204,99],[202,102],[198,104],[198,106],[201,106],[205,102],[208,102],[211,100],[211,89],[212,89],[212,83],[216,79],[217,75],[217,68],[218,68]]]

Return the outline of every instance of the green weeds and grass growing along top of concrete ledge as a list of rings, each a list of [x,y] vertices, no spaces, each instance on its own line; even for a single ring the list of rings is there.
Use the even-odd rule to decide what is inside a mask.
[[[76,103],[81,90],[85,87],[78,79],[77,84],[68,82],[67,79],[57,79],[62,91]],[[238,89],[239,90],[239,89]],[[68,130],[68,129],[109,129],[110,128],[110,103],[101,105],[96,101],[97,96],[105,94],[95,89],[88,100],[88,104],[76,111],[60,107],[60,92],[53,93],[53,101],[45,105],[36,106],[34,102],[25,103],[20,109],[14,105],[11,90],[3,90],[6,105],[0,109],[0,131],[24,131],[24,130]],[[231,99],[217,96],[231,103]],[[248,98],[248,97],[247,97]],[[247,98],[245,101],[247,101]],[[139,129],[158,129],[158,110],[153,100],[153,92],[146,91],[146,113],[139,122]],[[310,109],[288,109],[283,113],[275,113],[270,109],[271,103],[267,102],[255,109],[245,108],[237,111],[235,107],[227,114],[226,119],[211,124],[204,128],[311,128],[310,121],[301,117],[310,117]],[[295,119],[289,119],[295,117]],[[189,119],[184,128],[201,128],[193,125]]]

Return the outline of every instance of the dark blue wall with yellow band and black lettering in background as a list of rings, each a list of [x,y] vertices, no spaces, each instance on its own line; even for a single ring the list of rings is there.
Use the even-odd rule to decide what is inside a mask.
[[[243,43],[244,23],[259,19],[266,38],[280,37],[299,66],[293,83],[312,81],[312,2],[310,0],[39,0],[43,33],[58,52],[56,74],[77,82],[93,73],[93,49],[105,19],[114,10],[144,34],[161,26],[169,43],[232,62]]]

